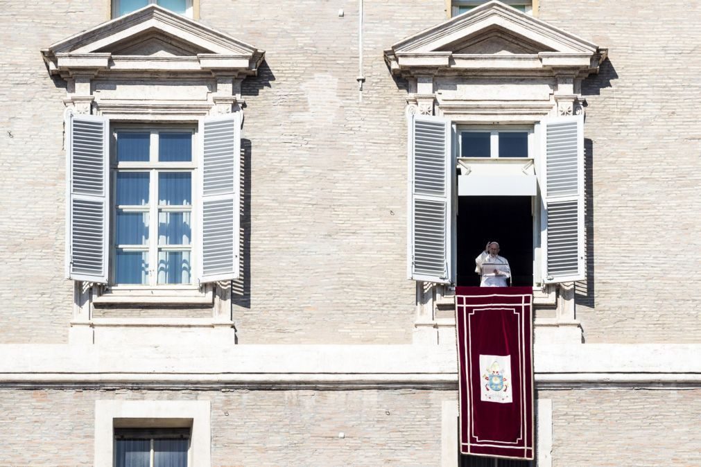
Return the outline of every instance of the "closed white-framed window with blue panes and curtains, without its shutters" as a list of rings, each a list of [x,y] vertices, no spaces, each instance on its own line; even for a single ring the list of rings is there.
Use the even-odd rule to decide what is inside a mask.
[[[114,130],[114,284],[192,283],[194,136],[186,128]]]

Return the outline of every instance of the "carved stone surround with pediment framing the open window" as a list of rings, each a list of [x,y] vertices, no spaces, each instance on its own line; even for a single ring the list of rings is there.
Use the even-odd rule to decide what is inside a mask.
[[[535,125],[550,117],[583,116],[586,104],[581,83],[590,74],[598,73],[599,65],[608,55],[607,48],[498,0],[486,1],[455,18],[451,18],[450,6],[451,2],[446,1],[444,22],[407,36],[384,50],[390,73],[407,83],[407,118],[435,117],[435,121],[444,120],[453,125],[494,122]],[[535,1],[533,10],[537,13]],[[521,88],[518,95],[508,96],[497,90],[492,90],[491,95],[458,90],[458,84],[470,81],[497,79],[500,83],[523,84],[522,79],[529,77],[541,81],[532,81],[533,86]],[[547,88],[538,88],[543,83],[547,83]],[[410,141],[411,137],[409,133]],[[436,344],[454,340],[451,286],[443,280],[418,279],[422,280],[416,281],[414,342]],[[535,305],[554,309],[555,314],[554,318],[539,318],[536,314],[535,332],[536,336],[540,335],[536,339],[582,342],[574,311],[573,282],[534,288],[533,299]]]

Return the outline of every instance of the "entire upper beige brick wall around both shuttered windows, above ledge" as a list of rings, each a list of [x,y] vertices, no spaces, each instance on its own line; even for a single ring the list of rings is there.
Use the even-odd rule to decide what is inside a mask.
[[[357,8],[201,1],[205,24],[266,50],[259,78],[243,90],[241,343],[411,340],[405,83],[390,76],[382,50],[443,20],[444,1],[365,1],[362,103]],[[578,318],[587,342],[699,338],[701,60],[693,50],[701,33],[690,20],[699,8],[540,2],[543,20],[611,49],[584,86],[593,275],[580,288]],[[11,1],[0,10],[0,341],[66,342],[64,83],[48,77],[39,50],[99,24],[108,6]]]

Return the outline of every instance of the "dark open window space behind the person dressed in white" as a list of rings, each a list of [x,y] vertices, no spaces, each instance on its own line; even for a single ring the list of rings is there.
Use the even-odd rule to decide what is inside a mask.
[[[529,196],[460,196],[457,285],[479,286],[475,257],[486,242],[499,242],[509,261],[512,286],[533,285],[533,214]]]

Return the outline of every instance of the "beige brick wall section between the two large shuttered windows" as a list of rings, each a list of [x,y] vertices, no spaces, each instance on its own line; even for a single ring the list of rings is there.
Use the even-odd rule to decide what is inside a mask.
[[[440,22],[444,2],[365,1],[362,103],[357,1],[242,6],[201,3],[207,24],[266,50],[243,90],[252,196],[240,342],[411,342],[406,91],[382,51]]]

